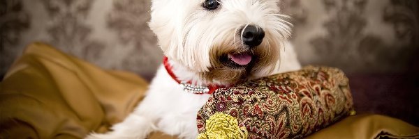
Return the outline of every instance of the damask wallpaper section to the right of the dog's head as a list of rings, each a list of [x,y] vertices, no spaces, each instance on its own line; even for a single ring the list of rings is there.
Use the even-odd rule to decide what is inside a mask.
[[[404,72],[418,63],[416,0],[286,0],[302,63],[347,73]]]

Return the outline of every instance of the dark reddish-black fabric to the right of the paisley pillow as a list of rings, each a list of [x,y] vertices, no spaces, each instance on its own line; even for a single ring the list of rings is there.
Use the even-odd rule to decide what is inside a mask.
[[[419,74],[348,75],[357,113],[388,115],[419,126]]]

